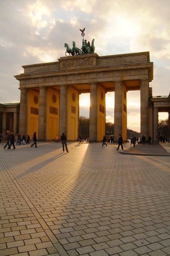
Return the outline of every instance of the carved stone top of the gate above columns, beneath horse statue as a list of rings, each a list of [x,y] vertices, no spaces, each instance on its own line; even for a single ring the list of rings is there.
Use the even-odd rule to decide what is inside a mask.
[[[109,55],[98,54],[61,57],[58,62],[22,66],[24,73],[16,75],[20,87],[89,84],[91,82],[128,81],[134,90],[136,80],[153,80],[153,63],[149,62],[149,52]],[[66,73],[67,71],[67,73]],[[139,86],[139,84],[137,85]],[[129,88],[130,90],[130,88]]]

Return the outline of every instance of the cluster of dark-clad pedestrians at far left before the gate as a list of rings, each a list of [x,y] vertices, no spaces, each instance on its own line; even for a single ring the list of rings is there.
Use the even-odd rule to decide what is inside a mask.
[[[34,143],[31,145],[31,147],[35,144],[35,148],[37,148],[36,146],[36,132],[33,134],[32,136]],[[2,137],[2,134],[0,134],[0,141],[4,139]],[[14,136],[13,132],[10,133],[10,131],[6,131],[6,136],[5,136],[5,140],[6,140],[6,144],[4,146],[4,149],[8,146],[7,149],[11,149],[11,146],[13,145],[13,149],[16,149],[15,147],[15,141],[16,141],[16,145],[25,145],[25,144],[30,144],[30,137],[29,135],[27,135],[27,139],[26,139],[26,134],[22,135],[22,140],[21,140],[21,134],[17,133],[16,136]]]

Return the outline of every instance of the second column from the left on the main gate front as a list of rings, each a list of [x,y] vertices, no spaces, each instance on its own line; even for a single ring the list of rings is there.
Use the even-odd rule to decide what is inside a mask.
[[[38,140],[45,140],[45,118],[46,117],[46,88],[40,87],[39,95],[39,117],[38,117]]]

